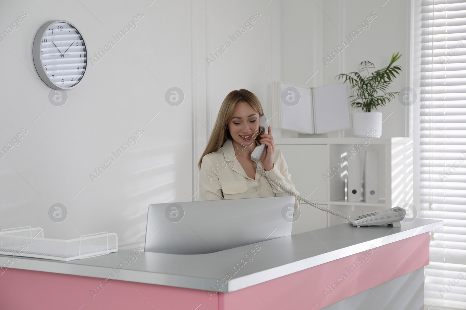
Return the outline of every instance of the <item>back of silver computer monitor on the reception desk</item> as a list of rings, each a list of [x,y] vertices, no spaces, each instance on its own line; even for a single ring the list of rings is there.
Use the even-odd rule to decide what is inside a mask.
[[[293,196],[151,204],[144,251],[204,254],[290,236],[294,204]]]

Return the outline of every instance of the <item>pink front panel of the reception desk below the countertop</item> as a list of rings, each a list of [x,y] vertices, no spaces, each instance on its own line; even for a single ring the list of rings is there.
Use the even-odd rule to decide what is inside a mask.
[[[429,264],[429,241],[423,233],[231,293],[8,268],[0,310],[317,310]]]

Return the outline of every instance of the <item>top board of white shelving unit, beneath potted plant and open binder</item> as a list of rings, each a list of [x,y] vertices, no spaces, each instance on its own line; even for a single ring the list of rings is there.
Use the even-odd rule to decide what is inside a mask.
[[[274,138],[275,144],[357,144],[363,138]],[[368,139],[368,138],[366,138]],[[412,138],[372,138],[368,139],[370,144],[408,144]]]

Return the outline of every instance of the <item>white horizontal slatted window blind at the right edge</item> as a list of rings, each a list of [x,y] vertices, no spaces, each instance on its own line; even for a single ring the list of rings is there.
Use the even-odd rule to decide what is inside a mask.
[[[466,1],[421,1],[420,215],[431,233],[425,304],[466,309]]]

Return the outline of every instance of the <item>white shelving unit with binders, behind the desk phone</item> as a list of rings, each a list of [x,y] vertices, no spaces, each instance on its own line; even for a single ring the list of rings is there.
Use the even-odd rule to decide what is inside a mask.
[[[277,138],[296,190],[316,204],[348,215],[401,206],[413,201],[412,138]],[[358,145],[360,143],[360,145]],[[357,147],[359,146],[359,147]],[[379,151],[379,202],[348,202],[345,199],[346,165],[332,178],[328,169],[341,162],[356,147],[361,176],[365,151]],[[301,218],[293,223],[293,234],[345,223],[346,220],[302,203]]]

